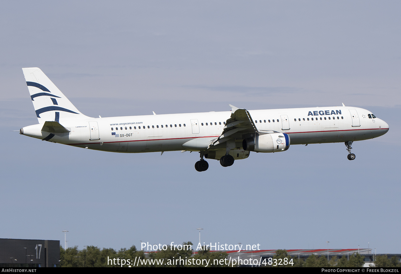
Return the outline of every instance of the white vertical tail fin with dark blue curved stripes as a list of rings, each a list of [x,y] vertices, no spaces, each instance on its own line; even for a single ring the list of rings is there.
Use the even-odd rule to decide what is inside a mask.
[[[39,68],[22,69],[40,124],[89,118],[83,115]]]

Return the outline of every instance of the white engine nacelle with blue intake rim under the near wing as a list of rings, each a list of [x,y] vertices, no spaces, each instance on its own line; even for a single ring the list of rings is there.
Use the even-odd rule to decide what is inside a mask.
[[[290,147],[290,136],[287,133],[270,133],[242,141],[244,150],[256,152],[286,151]]]

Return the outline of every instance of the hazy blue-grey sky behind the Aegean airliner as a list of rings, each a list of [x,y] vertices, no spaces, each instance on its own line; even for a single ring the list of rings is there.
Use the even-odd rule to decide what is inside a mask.
[[[0,10],[0,238],[140,248],[191,241],[401,253],[399,1],[8,1]],[[19,135],[22,67],[98,117],[346,106],[387,134],[221,167]]]

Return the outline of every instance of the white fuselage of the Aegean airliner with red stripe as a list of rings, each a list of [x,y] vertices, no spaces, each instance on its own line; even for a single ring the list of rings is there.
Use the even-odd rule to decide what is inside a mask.
[[[249,113],[259,131],[287,133],[292,145],[360,141],[389,130],[385,121],[370,118],[370,111],[356,107],[264,109]],[[183,144],[197,138],[204,143],[213,141],[223,132],[230,115],[231,111],[223,111],[63,121],[70,132],[54,133],[50,141],[125,153],[200,151]],[[43,124],[24,127],[23,134],[44,139],[49,132],[41,131],[42,127]]]

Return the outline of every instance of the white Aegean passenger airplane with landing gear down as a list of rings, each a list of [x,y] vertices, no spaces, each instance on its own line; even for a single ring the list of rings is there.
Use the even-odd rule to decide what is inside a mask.
[[[250,151],[282,152],[292,145],[340,143],[348,160],[354,141],[379,137],[389,125],[358,107],[241,109],[231,111],[100,117],[83,115],[38,68],[23,68],[38,124],[20,134],[86,149],[120,153],[198,151],[197,171],[216,159],[223,167]]]

